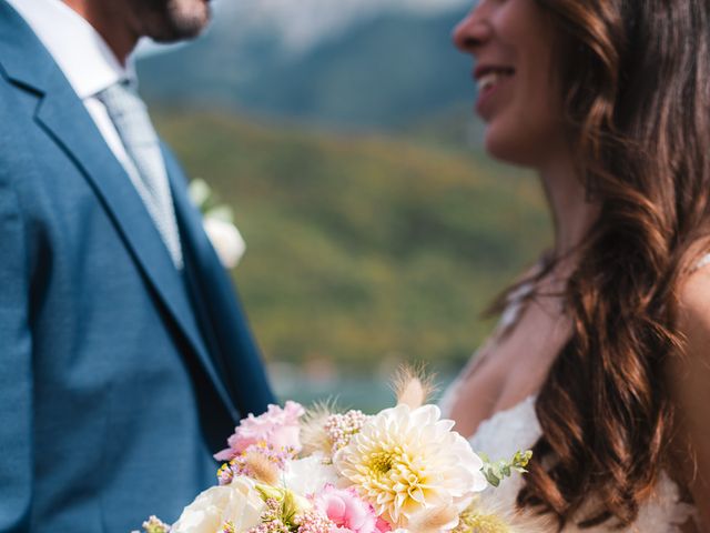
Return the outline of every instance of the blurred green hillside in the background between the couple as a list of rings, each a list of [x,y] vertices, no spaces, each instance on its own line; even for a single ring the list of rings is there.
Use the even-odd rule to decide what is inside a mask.
[[[233,205],[235,270],[266,356],[371,371],[465,361],[479,313],[549,241],[535,178],[455,148],[229,115],[156,117]]]

